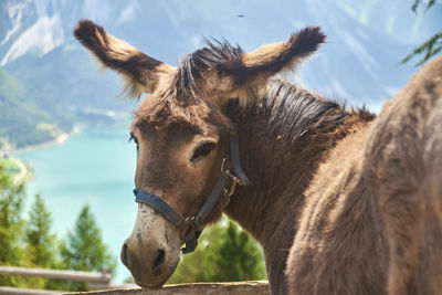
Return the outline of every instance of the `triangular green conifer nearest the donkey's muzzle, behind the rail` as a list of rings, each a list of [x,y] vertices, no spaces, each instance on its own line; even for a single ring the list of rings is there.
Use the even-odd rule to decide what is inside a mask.
[[[88,206],[84,206],[76,220],[75,228],[67,233],[60,245],[62,266],[76,271],[115,270],[115,257],[109,254],[102,241],[102,232]],[[70,289],[86,289],[81,283],[66,285]]]

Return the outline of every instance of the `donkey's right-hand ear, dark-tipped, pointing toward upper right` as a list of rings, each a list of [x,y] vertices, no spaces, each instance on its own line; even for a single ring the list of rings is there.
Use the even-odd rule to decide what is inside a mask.
[[[244,86],[255,78],[267,78],[283,70],[294,70],[303,59],[316,52],[326,35],[319,27],[308,27],[292,34],[287,42],[262,45],[218,65],[221,76],[232,78],[235,87]]]

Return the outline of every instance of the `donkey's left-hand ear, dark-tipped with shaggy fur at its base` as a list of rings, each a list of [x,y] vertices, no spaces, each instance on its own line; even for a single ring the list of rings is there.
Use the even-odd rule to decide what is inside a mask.
[[[134,97],[144,92],[152,93],[161,74],[171,66],[159,62],[123,40],[114,38],[90,20],[81,20],[74,29],[75,38],[107,67],[120,73],[126,80],[126,89]]]

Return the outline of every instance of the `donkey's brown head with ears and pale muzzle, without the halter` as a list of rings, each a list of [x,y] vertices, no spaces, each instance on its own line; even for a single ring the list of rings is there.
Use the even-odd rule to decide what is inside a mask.
[[[208,42],[208,48],[172,67],[91,21],[80,21],[74,33],[104,66],[123,75],[131,96],[149,94],[130,127],[137,145],[135,185],[159,196],[185,218],[197,214],[220,177],[228,138],[234,131],[225,114],[228,103],[236,99],[241,107],[259,97],[270,76],[292,70],[325,39],[319,28],[307,28],[287,42],[251,53]],[[224,201],[217,201],[203,225],[221,217]],[[122,261],[138,285],[165,284],[179,262],[183,234],[186,230],[150,206],[138,204],[134,231],[122,250]]]

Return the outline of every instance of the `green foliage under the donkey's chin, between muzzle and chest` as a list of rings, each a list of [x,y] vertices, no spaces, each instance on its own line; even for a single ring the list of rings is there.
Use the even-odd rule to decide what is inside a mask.
[[[194,253],[186,254],[169,284],[265,280],[257,243],[230,220],[204,230]]]

